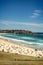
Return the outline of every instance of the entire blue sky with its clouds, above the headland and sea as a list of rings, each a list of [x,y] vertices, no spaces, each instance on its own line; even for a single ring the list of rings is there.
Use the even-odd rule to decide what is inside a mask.
[[[0,0],[0,29],[43,32],[43,0]]]

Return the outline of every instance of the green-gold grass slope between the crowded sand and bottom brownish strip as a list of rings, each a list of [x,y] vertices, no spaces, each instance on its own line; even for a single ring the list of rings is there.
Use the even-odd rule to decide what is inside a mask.
[[[0,52],[0,60],[7,60],[7,61],[43,61],[43,58],[36,58],[31,56],[24,56],[19,54],[13,54],[13,53],[5,53]]]

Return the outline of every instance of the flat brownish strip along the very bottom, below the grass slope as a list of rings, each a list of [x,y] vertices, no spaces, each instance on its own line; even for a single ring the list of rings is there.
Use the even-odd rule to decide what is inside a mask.
[[[0,65],[43,65],[43,61],[0,61]]]

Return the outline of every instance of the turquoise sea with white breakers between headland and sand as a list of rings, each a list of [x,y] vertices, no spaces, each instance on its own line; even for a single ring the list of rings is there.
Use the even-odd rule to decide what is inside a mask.
[[[30,47],[43,49],[43,34],[0,34],[3,37],[7,37],[16,42],[21,42]]]

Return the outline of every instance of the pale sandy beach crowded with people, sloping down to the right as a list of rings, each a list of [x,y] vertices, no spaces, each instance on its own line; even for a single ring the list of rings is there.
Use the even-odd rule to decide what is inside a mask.
[[[0,51],[34,57],[43,57],[43,50],[26,47],[3,38],[0,38]]]

